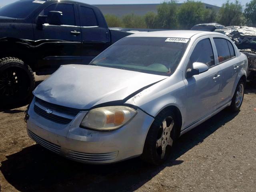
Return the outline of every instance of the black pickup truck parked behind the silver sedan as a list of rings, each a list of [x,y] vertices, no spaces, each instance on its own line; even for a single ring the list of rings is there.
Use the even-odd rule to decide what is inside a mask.
[[[69,0],[19,0],[0,8],[0,105],[28,100],[34,73],[88,64],[130,33],[109,30],[95,6]]]

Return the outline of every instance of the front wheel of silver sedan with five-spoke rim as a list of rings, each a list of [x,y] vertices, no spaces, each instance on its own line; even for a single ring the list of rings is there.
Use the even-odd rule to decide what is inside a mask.
[[[162,110],[152,123],[144,144],[142,160],[153,165],[164,163],[177,138],[178,120],[172,110]]]

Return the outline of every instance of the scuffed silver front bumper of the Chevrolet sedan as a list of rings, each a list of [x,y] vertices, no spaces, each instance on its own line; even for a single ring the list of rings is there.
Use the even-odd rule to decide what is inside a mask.
[[[108,164],[139,156],[154,121],[138,109],[136,116],[118,130],[88,130],[80,128],[87,112],[79,112],[68,124],[60,124],[36,113],[35,103],[34,99],[28,110],[27,132],[30,138],[54,153],[88,164]],[[38,103],[36,106],[47,110]]]

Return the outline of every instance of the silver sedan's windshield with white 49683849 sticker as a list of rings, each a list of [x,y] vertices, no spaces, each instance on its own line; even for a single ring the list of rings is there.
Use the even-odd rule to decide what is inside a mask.
[[[127,37],[110,46],[90,64],[170,76],[180,63],[188,41],[184,38]]]

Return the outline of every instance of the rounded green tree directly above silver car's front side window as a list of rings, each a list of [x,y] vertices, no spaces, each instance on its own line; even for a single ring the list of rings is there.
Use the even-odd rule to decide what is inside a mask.
[[[202,2],[187,0],[178,11],[178,21],[181,29],[190,29],[196,24],[206,21],[208,10]],[[210,18],[207,18],[209,22]],[[212,21],[213,22],[213,21]]]

